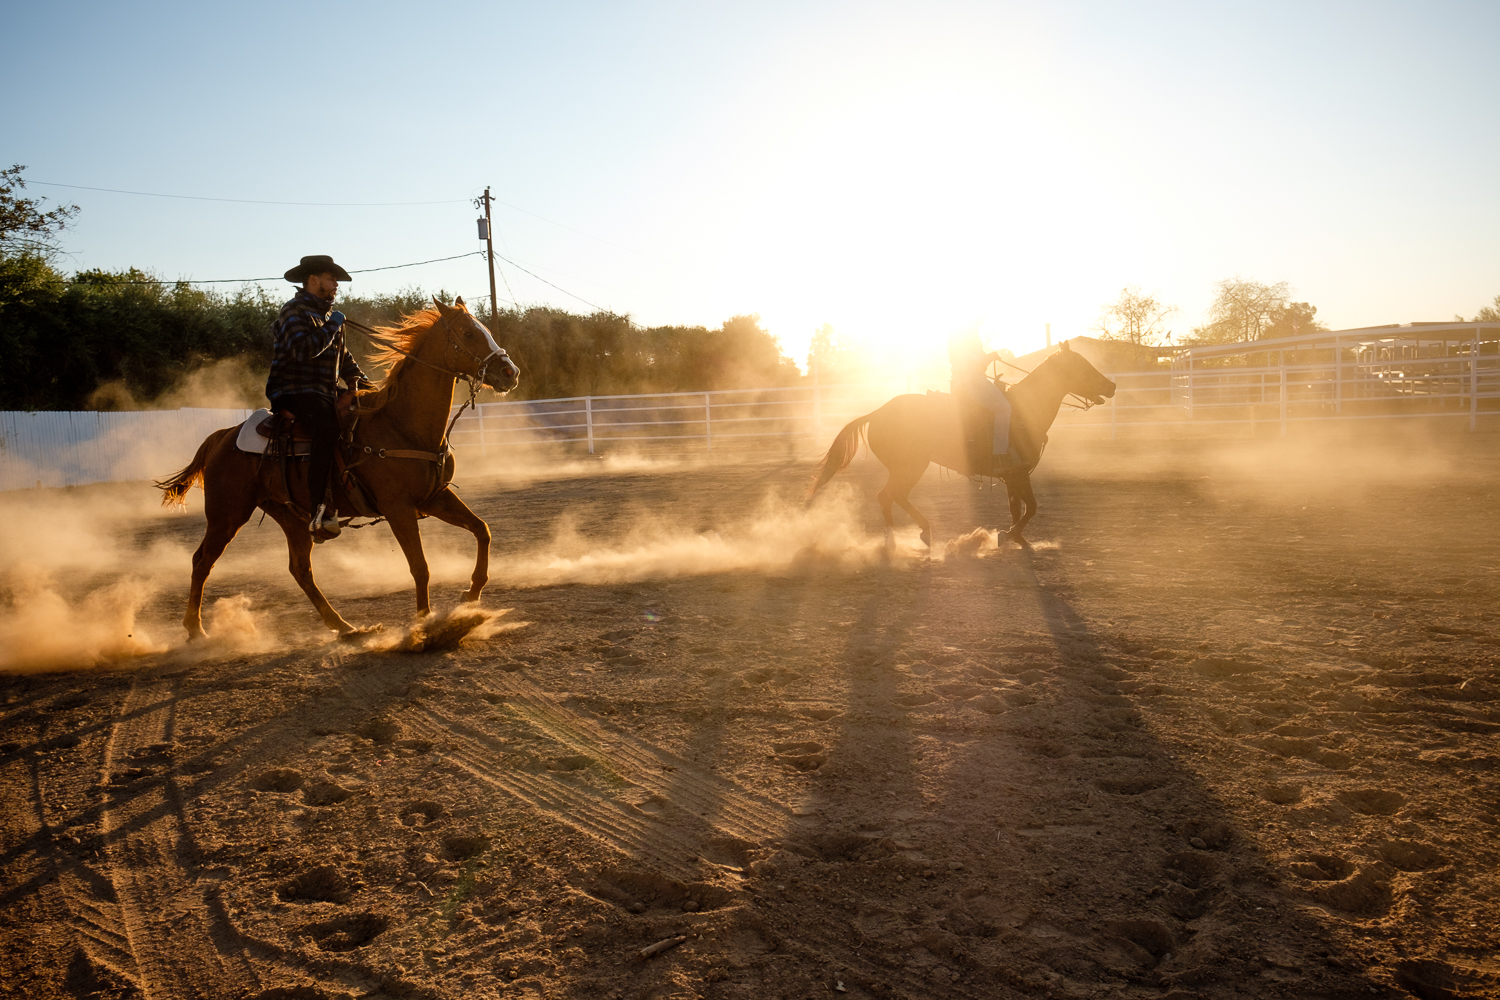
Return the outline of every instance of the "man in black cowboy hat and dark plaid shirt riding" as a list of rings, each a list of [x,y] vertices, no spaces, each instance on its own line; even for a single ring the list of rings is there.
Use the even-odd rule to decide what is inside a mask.
[[[328,495],[328,475],[339,445],[339,379],[350,391],[370,388],[358,363],[344,345],[344,313],[333,307],[339,282],[354,280],[332,256],[302,258],[286,271],[286,280],[302,285],[276,318],[272,375],[266,397],[273,411],[288,411],[312,435],[308,460],[308,502],[315,541],[339,534],[339,517]]]

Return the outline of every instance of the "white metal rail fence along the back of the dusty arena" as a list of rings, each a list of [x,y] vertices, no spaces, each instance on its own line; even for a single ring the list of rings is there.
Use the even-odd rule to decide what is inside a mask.
[[[1318,331],[1180,351],[1170,370],[1113,373],[1113,400],[1064,409],[1054,430],[1287,433],[1344,420],[1452,420],[1500,427],[1500,324],[1414,324]],[[915,387],[920,390],[921,387]],[[820,451],[849,420],[914,385],[579,396],[480,403],[453,429],[460,454],[522,448],[632,447],[734,453]],[[188,463],[213,430],[248,409],[0,412],[0,489],[160,478]]]

